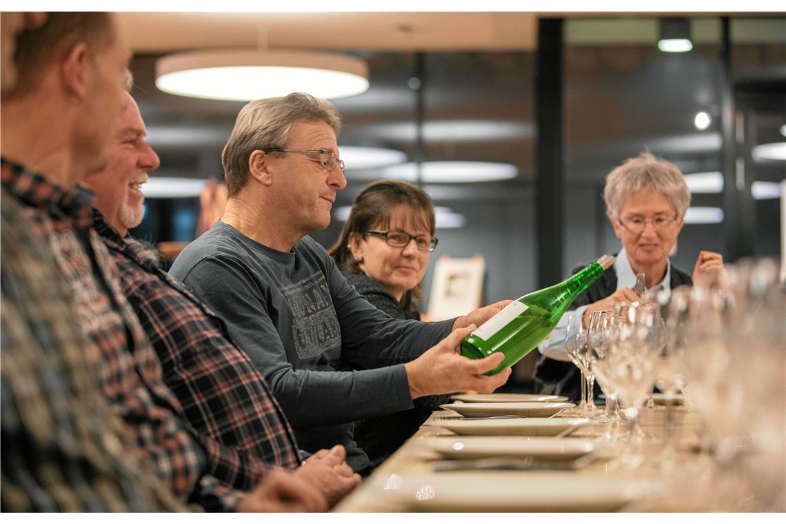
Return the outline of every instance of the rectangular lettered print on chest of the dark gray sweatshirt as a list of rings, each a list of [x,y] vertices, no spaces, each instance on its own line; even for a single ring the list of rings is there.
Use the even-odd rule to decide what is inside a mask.
[[[341,329],[325,275],[316,272],[281,289],[292,311],[292,340],[300,359],[341,345]]]

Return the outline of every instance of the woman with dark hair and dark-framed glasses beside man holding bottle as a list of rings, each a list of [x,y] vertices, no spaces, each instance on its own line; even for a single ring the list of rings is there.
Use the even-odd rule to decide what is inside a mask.
[[[437,245],[432,199],[416,185],[380,180],[354,198],[329,253],[350,284],[379,310],[420,320],[421,280]],[[417,398],[413,409],[355,423],[354,438],[371,467],[391,456],[448,395]]]

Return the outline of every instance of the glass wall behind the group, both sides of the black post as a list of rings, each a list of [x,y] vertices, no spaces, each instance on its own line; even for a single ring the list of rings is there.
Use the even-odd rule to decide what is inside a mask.
[[[652,16],[569,17],[561,23],[563,85],[553,86],[563,93],[561,273],[619,249],[604,214],[604,178],[642,151],[689,175],[695,209],[678,242],[679,267],[690,273],[700,249],[720,251],[729,262],[780,255],[786,16],[732,17],[726,33],[717,16],[691,17],[688,53],[658,49],[660,20]],[[728,57],[723,42],[729,43]],[[371,86],[334,101],[345,123],[339,145],[347,149],[342,156],[348,185],[338,195],[331,225],[314,238],[325,247],[334,242],[346,207],[369,181],[408,178],[424,187],[441,215],[423,311],[433,267],[443,255],[484,256],[484,302],[537,288],[543,220],[535,205],[535,53],[345,52],[368,62]],[[161,93],[154,85],[155,59],[141,55],[132,63],[133,93],[161,158],[154,176],[220,180],[220,152],[243,104]],[[729,100],[733,154],[724,150]],[[774,146],[758,147],[768,144]],[[360,157],[351,159],[351,147],[386,148],[398,156],[387,165],[362,167]],[[496,181],[458,181],[461,174],[449,181],[431,178],[429,164],[457,161],[505,165],[512,174]],[[149,198],[145,221],[134,233],[154,243],[193,240],[198,215],[198,192]],[[517,376],[531,374],[534,357],[523,361]]]

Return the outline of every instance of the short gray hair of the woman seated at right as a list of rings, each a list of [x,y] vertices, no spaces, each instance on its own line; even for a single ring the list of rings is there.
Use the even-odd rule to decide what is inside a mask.
[[[674,206],[678,218],[685,216],[690,205],[690,189],[685,184],[685,177],[673,163],[643,152],[615,167],[606,177],[603,198],[608,218],[619,218],[626,197],[645,189],[662,193]]]

